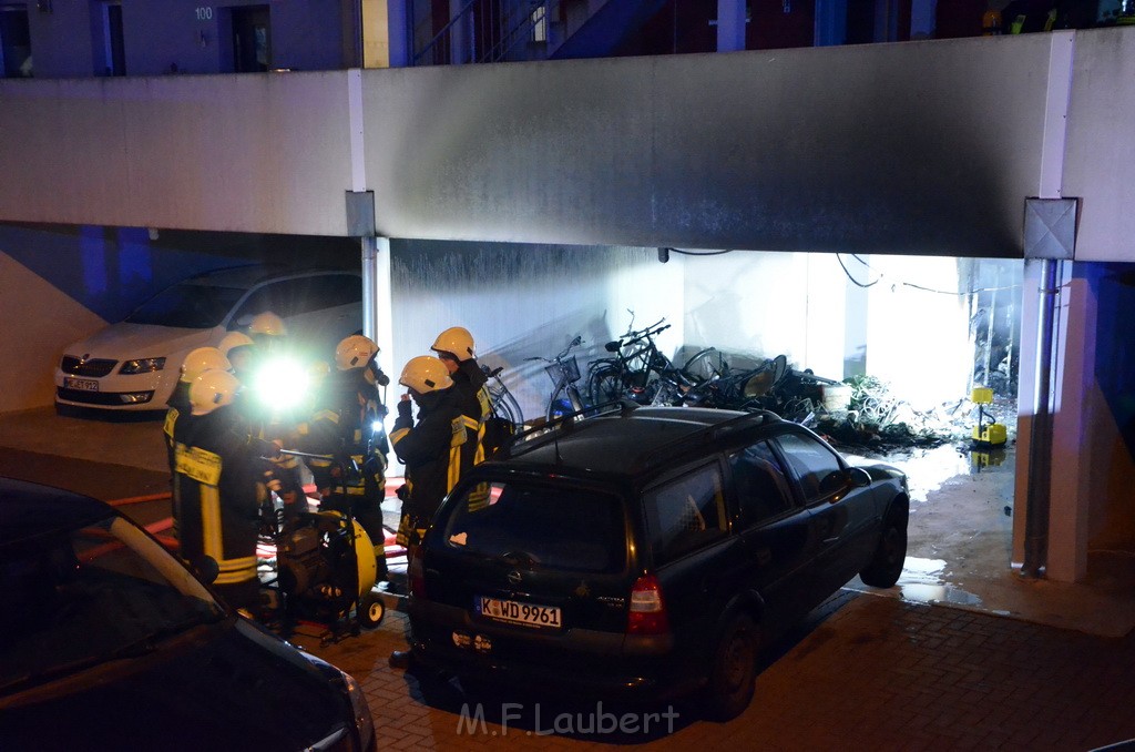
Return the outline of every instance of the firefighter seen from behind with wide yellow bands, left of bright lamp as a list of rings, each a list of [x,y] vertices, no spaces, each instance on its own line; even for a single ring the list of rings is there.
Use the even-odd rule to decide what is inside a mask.
[[[182,510],[180,555],[201,568],[211,558],[213,585],[236,609],[259,616],[257,535],[275,448],[242,431],[233,406],[239,382],[227,370],[199,375],[190,386],[193,420],[178,428],[174,503]]]

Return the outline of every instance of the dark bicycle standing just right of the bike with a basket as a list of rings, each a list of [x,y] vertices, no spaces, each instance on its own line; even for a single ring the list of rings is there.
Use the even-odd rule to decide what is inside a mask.
[[[623,396],[639,404],[661,404],[671,398],[670,388],[664,388],[659,379],[672,377],[676,379],[678,369],[670,358],[662,354],[654,337],[670,328],[659,319],[645,329],[628,331],[619,340],[605,345],[613,358],[600,358],[591,362],[587,376],[587,392],[591,404],[612,402]],[[632,323],[633,326],[633,323]],[[656,400],[663,400],[658,402]]]

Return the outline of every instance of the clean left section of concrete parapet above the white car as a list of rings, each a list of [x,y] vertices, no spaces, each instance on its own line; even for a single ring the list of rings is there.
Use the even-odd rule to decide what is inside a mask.
[[[345,74],[7,80],[0,101],[0,219],[345,234]]]

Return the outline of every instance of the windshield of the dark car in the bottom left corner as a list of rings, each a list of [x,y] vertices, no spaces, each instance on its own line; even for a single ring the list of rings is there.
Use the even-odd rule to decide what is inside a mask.
[[[120,517],[0,550],[0,695],[158,650],[224,610]]]

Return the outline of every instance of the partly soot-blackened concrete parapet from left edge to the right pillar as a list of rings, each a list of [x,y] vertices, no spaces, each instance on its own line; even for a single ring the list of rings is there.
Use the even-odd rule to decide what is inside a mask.
[[[1034,34],[363,70],[356,100],[346,72],[5,80],[0,219],[340,235],[353,189],[395,239],[1019,257],[1049,56]]]

